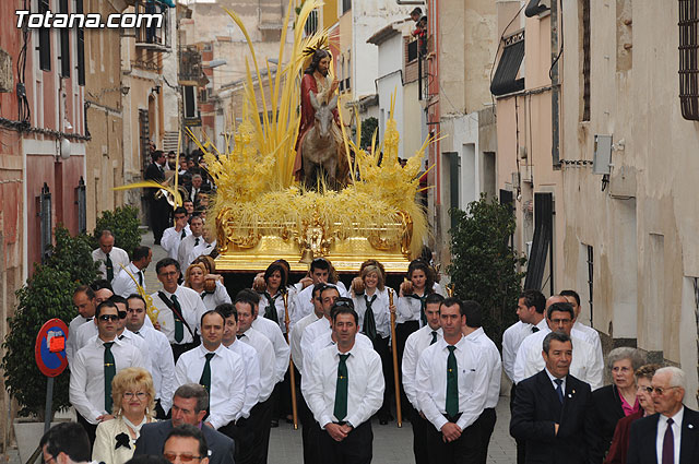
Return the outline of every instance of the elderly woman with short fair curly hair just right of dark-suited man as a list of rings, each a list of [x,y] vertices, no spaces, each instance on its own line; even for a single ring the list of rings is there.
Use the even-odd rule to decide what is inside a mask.
[[[639,350],[627,346],[615,348],[607,356],[612,384],[592,392],[603,454],[609,449],[619,419],[639,411],[633,372],[644,364]]]

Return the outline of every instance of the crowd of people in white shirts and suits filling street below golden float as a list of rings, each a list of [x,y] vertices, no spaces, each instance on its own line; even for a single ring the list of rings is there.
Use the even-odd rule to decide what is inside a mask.
[[[395,368],[417,464],[486,463],[502,370],[518,463],[696,462],[683,371],[620,347],[606,356],[604,386],[600,336],[581,322],[573,290],[524,290],[500,355],[478,302],[445,297],[428,254],[398,289],[376,260],[345,286],[318,258],[297,283],[275,261],[232,297],[203,218],[180,207],[174,224],[157,290],[143,276],[152,250],[129,258],[100,234],[100,278],[75,289],[67,344],[81,428],[49,432],[45,456],[56,456],[58,437],[84,430],[92,454],[75,462],[262,464],[271,428],[294,419],[295,402],[306,464],[369,463],[372,417],[395,418]]]

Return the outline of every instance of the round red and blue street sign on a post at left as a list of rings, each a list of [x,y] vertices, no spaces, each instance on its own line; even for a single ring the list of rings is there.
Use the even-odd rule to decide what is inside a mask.
[[[34,358],[36,365],[46,376],[46,414],[44,419],[44,432],[51,425],[51,403],[54,402],[54,378],[60,376],[68,367],[66,356],[66,343],[68,342],[68,325],[60,319],[47,321],[36,336],[34,344]]]

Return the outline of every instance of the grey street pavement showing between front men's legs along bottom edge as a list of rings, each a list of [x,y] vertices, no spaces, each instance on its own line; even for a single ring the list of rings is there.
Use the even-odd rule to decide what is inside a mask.
[[[510,464],[517,461],[517,448],[510,437],[510,397],[500,396],[496,407],[497,423],[488,447],[488,464]],[[411,423],[404,421],[402,428],[395,421],[388,426],[371,424],[374,431],[374,460],[379,464],[406,464],[414,462],[413,432]],[[301,464],[301,430],[281,421],[280,427],[272,429],[270,437],[269,464]]]

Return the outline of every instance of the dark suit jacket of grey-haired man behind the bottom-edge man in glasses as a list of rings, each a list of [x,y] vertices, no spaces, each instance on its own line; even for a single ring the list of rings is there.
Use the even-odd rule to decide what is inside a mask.
[[[235,451],[233,440],[211,427],[203,426],[201,429],[204,433],[206,445],[209,447],[209,463],[233,464],[233,454]],[[133,454],[162,455],[165,438],[167,438],[170,430],[173,430],[171,420],[144,424],[141,428],[141,436],[135,441]]]

